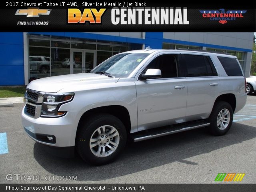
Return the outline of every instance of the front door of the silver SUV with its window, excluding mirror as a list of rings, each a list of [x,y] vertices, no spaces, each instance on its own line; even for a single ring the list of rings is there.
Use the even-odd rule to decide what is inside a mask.
[[[162,77],[135,81],[138,106],[138,131],[184,122],[187,82],[179,65],[180,54],[160,54],[140,72],[160,69]]]

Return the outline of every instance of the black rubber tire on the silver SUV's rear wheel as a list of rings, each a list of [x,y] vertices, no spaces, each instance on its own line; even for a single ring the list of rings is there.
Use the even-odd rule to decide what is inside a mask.
[[[219,114],[221,111],[222,112],[225,111],[225,109],[227,109],[230,114],[230,117],[229,117],[230,120],[228,123],[222,122],[223,125],[222,125],[222,123],[220,123],[218,125],[217,119],[219,117],[221,117],[221,115],[219,116]],[[228,115],[224,116],[223,118],[225,118],[225,121],[226,121],[226,119],[228,118]],[[212,113],[209,117],[209,121],[210,121],[210,132],[212,134],[217,135],[217,136],[226,134],[228,132],[228,130],[230,129],[232,122],[233,122],[233,109],[232,109],[231,105],[228,102],[224,102],[224,101],[216,102],[212,109]],[[222,118],[220,118],[220,120],[218,122],[220,122],[220,121],[222,121]]]

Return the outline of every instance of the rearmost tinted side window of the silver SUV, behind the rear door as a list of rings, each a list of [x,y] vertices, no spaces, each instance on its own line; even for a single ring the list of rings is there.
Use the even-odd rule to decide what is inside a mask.
[[[243,76],[239,63],[235,58],[218,56],[218,59],[228,76]]]

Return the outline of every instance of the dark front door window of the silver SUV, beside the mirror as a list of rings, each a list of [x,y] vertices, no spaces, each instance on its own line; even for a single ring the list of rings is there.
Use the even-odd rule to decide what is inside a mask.
[[[146,73],[148,69],[160,69],[162,78],[178,77],[177,64],[178,60],[174,54],[164,54],[158,56],[148,64],[142,73]]]

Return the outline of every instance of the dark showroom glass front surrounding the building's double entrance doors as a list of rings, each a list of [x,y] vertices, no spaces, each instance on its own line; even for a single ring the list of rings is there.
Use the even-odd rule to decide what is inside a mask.
[[[28,46],[29,82],[38,78],[70,74],[71,50],[95,51],[95,62],[93,53],[88,51],[85,54],[86,59],[92,56],[90,68],[93,68],[115,54],[142,49],[142,44],[38,34],[28,34]],[[74,68],[82,69],[76,59],[73,60]]]

